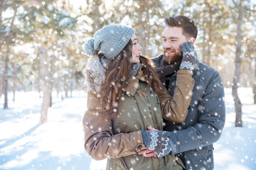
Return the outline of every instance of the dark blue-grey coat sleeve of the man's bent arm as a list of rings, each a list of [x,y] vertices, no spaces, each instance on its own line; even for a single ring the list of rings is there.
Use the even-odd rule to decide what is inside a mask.
[[[209,75],[210,76],[210,75]],[[175,147],[171,154],[202,148],[218,141],[225,124],[225,101],[223,83],[215,72],[211,77],[198,108],[198,123],[183,130],[170,132]]]

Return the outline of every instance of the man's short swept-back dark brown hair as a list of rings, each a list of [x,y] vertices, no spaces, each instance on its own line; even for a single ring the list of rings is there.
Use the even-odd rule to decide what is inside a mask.
[[[198,30],[194,21],[186,16],[167,17],[164,22],[166,26],[182,28],[182,33],[187,39],[197,37]]]

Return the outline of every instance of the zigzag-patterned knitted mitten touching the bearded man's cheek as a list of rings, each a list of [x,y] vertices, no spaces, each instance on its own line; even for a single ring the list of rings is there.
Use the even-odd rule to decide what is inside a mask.
[[[192,71],[193,66],[196,63],[196,52],[191,42],[185,42],[180,45],[183,52],[183,58],[180,69]]]

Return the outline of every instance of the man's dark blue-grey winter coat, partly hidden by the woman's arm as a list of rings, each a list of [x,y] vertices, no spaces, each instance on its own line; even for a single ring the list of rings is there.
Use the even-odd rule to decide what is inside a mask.
[[[159,66],[163,55],[153,59]],[[176,74],[170,79],[168,91],[174,95]],[[225,124],[223,82],[218,72],[196,61],[193,69],[195,86],[184,123],[166,122],[164,130],[172,131],[171,140],[186,169],[213,169],[213,143],[218,141]]]

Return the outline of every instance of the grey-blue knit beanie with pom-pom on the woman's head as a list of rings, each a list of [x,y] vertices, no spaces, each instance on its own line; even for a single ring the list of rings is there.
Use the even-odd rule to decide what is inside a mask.
[[[85,54],[91,57],[101,50],[107,59],[112,59],[122,52],[134,33],[135,31],[127,26],[105,26],[95,33],[94,38],[87,40],[84,46]]]

